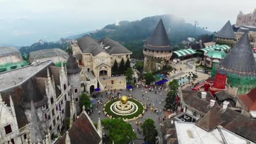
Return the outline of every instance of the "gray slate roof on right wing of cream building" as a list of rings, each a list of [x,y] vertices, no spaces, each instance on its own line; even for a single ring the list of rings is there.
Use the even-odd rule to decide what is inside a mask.
[[[127,48],[125,48],[123,45],[116,42],[115,40],[110,39],[109,37],[105,38],[103,40],[103,42],[104,42],[104,47],[105,48],[109,46],[109,48],[106,49],[106,51],[109,54],[132,53]]]

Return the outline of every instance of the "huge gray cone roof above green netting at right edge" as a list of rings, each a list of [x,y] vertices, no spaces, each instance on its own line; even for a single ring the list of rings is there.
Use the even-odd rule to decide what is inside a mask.
[[[232,71],[256,72],[256,62],[247,33],[221,61],[221,66]]]

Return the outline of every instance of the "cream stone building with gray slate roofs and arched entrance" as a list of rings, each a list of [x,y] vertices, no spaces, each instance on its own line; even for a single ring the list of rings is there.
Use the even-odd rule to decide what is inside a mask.
[[[114,61],[120,63],[130,59],[132,54],[127,48],[109,37],[96,41],[86,35],[77,39],[72,44],[73,55],[83,72],[93,72],[95,78],[110,77]]]

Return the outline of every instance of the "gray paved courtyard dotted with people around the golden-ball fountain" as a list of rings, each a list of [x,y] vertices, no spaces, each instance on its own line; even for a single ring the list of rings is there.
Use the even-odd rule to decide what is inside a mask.
[[[161,116],[163,118],[164,115],[165,115],[164,112],[163,112],[163,107],[165,105],[165,97],[166,97],[167,92],[166,91],[161,91],[162,96],[160,96],[160,92],[158,94],[155,94],[155,91],[154,92],[148,91],[147,93],[144,93],[145,99],[143,100],[143,97],[142,97],[142,94],[141,94],[141,90],[145,90],[145,88],[142,88],[142,86],[141,86],[141,88],[133,88],[133,91],[132,91],[133,97],[135,97],[139,101],[142,101],[143,104],[145,104],[145,102],[147,102],[147,104],[150,103],[151,106],[157,100],[157,103],[155,103],[155,107],[157,107],[158,109],[161,109],[161,113],[159,112],[159,115],[157,115],[155,112],[152,112],[150,109],[148,109],[147,111],[145,111],[145,113],[144,113],[142,118],[139,118],[137,120],[131,121],[131,125],[134,128],[134,131],[137,133],[137,138],[138,138],[136,141],[134,141],[135,144],[142,144],[142,142],[143,142],[143,135],[139,134],[137,132],[137,128],[141,129],[141,127],[140,127],[140,125],[136,125],[135,124],[136,121],[141,121],[142,123],[144,123],[144,120],[146,118],[151,117],[155,121],[155,126],[157,128],[157,131],[160,131],[160,125],[159,125],[160,122],[158,121],[158,117]],[[129,93],[128,90],[125,89],[125,90],[123,90],[121,92],[121,96],[123,96],[123,95],[127,95],[128,96],[128,93]],[[101,98],[101,95],[102,95],[102,98]],[[117,92],[115,93],[115,95],[117,95]],[[149,101],[147,101],[147,98],[149,98]],[[102,102],[103,101],[108,101],[105,92],[101,92],[98,95],[98,99],[101,99]],[[162,99],[164,100],[164,102],[162,102]],[[161,102],[161,103],[159,103],[159,102]],[[97,110],[96,110],[96,108],[97,108],[97,104],[94,104],[93,112],[90,115],[90,117],[93,120],[93,122],[98,122],[99,116],[101,117],[101,120],[106,119],[107,116],[105,116],[102,113],[103,104],[99,104],[99,107],[97,108]],[[100,115],[99,115],[99,111],[101,111]],[[127,122],[127,123],[130,123],[130,122]]]

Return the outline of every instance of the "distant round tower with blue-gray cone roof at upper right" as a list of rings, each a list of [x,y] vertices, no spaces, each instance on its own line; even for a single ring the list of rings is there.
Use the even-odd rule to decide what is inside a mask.
[[[216,44],[219,45],[229,45],[233,47],[236,41],[235,32],[232,29],[230,21],[221,28],[221,30],[216,34]]]

